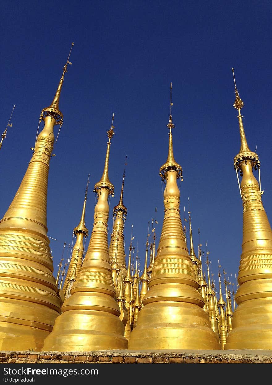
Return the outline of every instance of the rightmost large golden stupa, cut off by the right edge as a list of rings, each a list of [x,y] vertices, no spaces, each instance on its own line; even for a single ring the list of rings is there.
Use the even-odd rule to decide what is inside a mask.
[[[232,69],[234,74],[234,69]],[[225,349],[272,349],[272,230],[262,203],[260,161],[247,146],[240,109],[243,106],[236,88],[234,107],[238,110],[241,147],[234,158],[240,171],[243,202],[242,254],[238,273],[237,308]],[[259,171],[259,184],[253,175]]]

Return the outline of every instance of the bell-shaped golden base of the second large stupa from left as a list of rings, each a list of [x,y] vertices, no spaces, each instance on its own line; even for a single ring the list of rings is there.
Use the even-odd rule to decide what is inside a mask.
[[[97,294],[74,293],[65,300],[63,313],[45,339],[43,351],[86,352],[128,347],[116,300]],[[105,311],[101,310],[103,307]]]

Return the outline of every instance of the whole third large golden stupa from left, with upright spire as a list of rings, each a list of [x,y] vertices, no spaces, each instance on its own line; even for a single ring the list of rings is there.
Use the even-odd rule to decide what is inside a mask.
[[[129,349],[220,349],[211,329],[204,300],[184,239],[177,178],[182,168],[174,160],[172,146],[172,83],[170,87],[169,149],[160,168],[164,190],[164,220],[149,290],[143,298],[137,326],[128,341]]]

